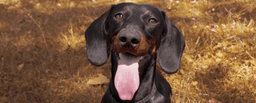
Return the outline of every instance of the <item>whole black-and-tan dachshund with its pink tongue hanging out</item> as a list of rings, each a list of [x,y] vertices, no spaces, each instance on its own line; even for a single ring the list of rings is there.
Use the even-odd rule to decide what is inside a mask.
[[[170,103],[170,84],[156,71],[179,70],[185,41],[164,11],[147,4],[121,3],[85,31],[87,58],[95,66],[108,60],[111,80],[101,103]]]

